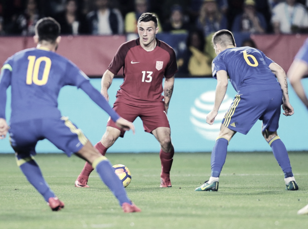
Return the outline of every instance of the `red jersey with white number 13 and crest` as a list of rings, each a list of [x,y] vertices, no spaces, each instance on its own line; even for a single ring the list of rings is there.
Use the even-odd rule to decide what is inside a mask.
[[[124,82],[117,92],[117,100],[133,103],[163,101],[163,78],[171,78],[178,71],[172,47],[156,39],[152,51],[144,50],[139,38],[123,43],[108,70],[117,74],[123,67]]]

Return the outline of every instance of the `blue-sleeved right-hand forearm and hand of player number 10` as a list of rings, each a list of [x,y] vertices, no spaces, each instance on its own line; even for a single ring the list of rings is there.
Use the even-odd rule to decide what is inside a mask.
[[[109,105],[107,99],[103,97],[89,81],[84,81],[79,88],[81,88],[100,108],[105,110],[110,118],[116,123],[119,128],[126,131],[132,130],[135,133],[135,127],[131,122],[121,118],[116,111],[114,111]]]

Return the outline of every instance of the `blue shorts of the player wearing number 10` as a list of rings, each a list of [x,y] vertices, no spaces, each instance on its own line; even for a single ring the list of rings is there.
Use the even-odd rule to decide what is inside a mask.
[[[10,125],[10,141],[15,152],[35,155],[39,140],[47,139],[68,156],[78,152],[88,141],[67,117],[33,119]]]

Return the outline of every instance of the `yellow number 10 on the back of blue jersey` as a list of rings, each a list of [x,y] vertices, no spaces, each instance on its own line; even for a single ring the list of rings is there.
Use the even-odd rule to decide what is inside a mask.
[[[27,70],[27,79],[26,83],[28,85],[32,84],[32,82],[38,86],[45,85],[48,81],[49,77],[49,72],[50,72],[50,67],[52,66],[52,60],[50,58],[47,58],[46,56],[41,56],[40,58],[37,58],[36,60],[35,55],[29,55],[28,60],[28,70]],[[43,72],[42,79],[38,79],[38,71],[39,71],[39,66],[41,62],[45,62],[45,68]]]

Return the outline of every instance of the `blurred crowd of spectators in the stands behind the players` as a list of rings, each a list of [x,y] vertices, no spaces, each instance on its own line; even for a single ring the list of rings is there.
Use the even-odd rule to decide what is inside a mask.
[[[159,32],[188,34],[178,56],[180,72],[208,75],[214,32],[308,33],[307,7],[308,0],[9,0],[0,2],[0,35],[31,36],[46,16],[60,23],[63,35],[133,34],[139,16],[151,12],[159,18]]]

